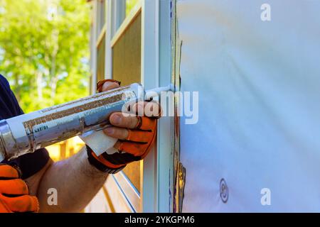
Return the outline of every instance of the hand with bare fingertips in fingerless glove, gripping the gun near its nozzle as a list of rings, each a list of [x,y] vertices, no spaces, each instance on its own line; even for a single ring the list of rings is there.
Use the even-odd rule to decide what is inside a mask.
[[[119,82],[109,79],[97,84],[98,92],[105,92],[117,87],[119,87]],[[159,116],[137,116],[137,110],[146,105],[149,105],[148,109],[151,110],[153,108],[160,109],[156,102],[142,101],[132,106],[131,113],[135,114],[124,115],[117,112],[110,116],[112,127],[106,128],[104,133],[112,138],[119,139],[114,145],[119,153],[112,155],[103,153],[98,157],[95,153],[91,153],[102,165],[112,170],[118,170],[129,162],[142,160],[149,153],[156,138],[156,125]]]

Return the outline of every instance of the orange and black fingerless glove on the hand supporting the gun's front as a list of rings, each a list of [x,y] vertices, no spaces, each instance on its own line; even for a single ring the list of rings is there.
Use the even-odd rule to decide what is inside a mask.
[[[113,79],[105,79],[97,84],[97,91],[102,92],[102,86],[105,82],[117,82]],[[120,84],[120,82],[117,82]],[[87,146],[87,154],[89,161],[95,165],[97,169],[116,173],[122,170],[128,163],[142,160],[149,153],[151,146],[156,139],[157,118],[149,118],[146,116],[137,116],[138,123],[134,129],[127,129],[128,136],[125,140],[119,140],[114,148],[119,150],[119,153],[109,155],[103,153],[100,156],[95,155]]]

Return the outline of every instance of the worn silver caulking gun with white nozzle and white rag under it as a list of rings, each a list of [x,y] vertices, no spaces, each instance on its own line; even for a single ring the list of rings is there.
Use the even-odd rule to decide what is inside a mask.
[[[122,111],[124,104],[149,99],[148,94],[160,94],[172,86],[148,91],[141,84],[131,84],[86,98],[70,101],[30,114],[0,121],[0,162],[11,160],[39,148],[80,135],[80,138],[101,153],[117,152],[113,148],[117,139],[107,137],[102,129],[108,126],[108,116]],[[99,141],[99,143],[97,143]]]

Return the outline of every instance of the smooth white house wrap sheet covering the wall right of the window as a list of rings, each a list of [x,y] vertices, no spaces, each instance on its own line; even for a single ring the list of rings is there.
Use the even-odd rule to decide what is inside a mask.
[[[183,211],[320,211],[319,9],[178,1],[181,89],[199,92],[198,123],[181,119]]]

